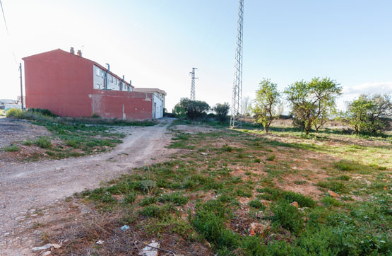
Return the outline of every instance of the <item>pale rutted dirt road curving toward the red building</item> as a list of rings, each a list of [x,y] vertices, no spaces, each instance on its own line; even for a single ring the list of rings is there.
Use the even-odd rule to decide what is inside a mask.
[[[129,135],[109,153],[0,166],[0,241],[12,235],[29,209],[98,187],[131,168],[167,159],[174,152],[165,148],[170,144],[167,126],[171,122],[162,119],[153,127],[121,127]]]

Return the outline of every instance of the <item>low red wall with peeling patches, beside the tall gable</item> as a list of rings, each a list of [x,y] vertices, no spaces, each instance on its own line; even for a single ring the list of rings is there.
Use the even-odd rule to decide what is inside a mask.
[[[100,117],[119,119],[153,118],[153,93],[94,90],[93,112]]]

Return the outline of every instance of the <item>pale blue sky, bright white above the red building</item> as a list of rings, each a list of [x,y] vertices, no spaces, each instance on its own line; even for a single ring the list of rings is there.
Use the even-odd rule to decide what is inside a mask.
[[[0,99],[20,95],[21,58],[60,48],[167,92],[169,112],[189,97],[231,103],[237,0],[1,0]],[[331,77],[338,107],[361,93],[392,93],[392,1],[244,0],[243,96]],[[23,82],[24,83],[24,82]],[[92,85],[93,86],[93,85]]]

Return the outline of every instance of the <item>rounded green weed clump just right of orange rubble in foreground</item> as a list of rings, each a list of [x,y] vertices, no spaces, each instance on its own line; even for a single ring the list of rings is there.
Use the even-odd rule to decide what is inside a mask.
[[[277,204],[271,205],[273,212],[273,223],[282,226],[289,231],[298,233],[304,227],[302,214],[295,206],[287,204],[284,200],[280,200]]]

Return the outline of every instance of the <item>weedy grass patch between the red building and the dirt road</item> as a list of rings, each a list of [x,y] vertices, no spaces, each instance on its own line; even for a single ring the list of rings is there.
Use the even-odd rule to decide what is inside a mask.
[[[91,153],[100,153],[121,143],[124,134],[115,132],[116,127],[150,126],[155,122],[132,122],[128,120],[108,120],[92,117],[50,117],[36,112],[20,112],[20,119],[30,120],[32,124],[45,127],[52,136],[41,136],[35,140],[19,141],[12,151],[21,151],[23,147],[35,147],[37,150],[23,160],[38,160],[47,158],[69,158]],[[5,148],[4,151],[11,152]]]

